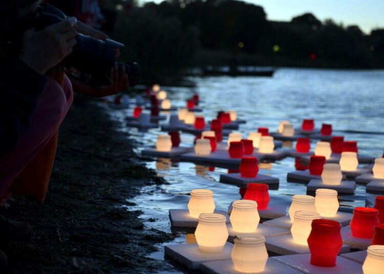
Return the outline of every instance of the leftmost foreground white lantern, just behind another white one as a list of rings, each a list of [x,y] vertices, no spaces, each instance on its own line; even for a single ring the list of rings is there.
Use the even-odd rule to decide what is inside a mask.
[[[208,189],[194,189],[188,202],[190,216],[198,218],[201,213],[214,213],[214,192]]]

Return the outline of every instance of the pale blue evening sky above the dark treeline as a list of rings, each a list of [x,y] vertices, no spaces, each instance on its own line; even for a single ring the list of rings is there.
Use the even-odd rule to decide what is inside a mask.
[[[148,0],[142,0],[149,2]],[[160,3],[163,0],[153,0]],[[305,12],[318,19],[332,18],[345,26],[358,25],[366,33],[384,28],[384,0],[246,0],[264,7],[270,20],[290,20]]]

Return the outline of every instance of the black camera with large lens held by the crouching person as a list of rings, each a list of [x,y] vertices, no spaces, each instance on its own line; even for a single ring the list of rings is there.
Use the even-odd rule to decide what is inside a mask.
[[[42,30],[50,25],[65,20],[67,16],[52,5],[45,4],[39,7],[35,14],[28,19],[27,26]],[[117,64],[119,70],[125,66],[130,86],[138,84],[140,65],[136,62],[116,63],[115,49],[123,48],[124,44],[106,39],[105,41],[78,33],[73,52],[67,56],[62,64],[66,67],[75,67],[82,75],[88,75],[88,81],[95,85],[109,85],[111,68]]]

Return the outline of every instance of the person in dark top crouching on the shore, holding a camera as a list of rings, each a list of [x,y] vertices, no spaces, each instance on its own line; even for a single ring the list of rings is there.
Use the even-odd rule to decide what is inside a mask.
[[[27,19],[40,4],[36,0],[5,0],[0,4],[2,204],[11,193],[44,202],[56,153],[58,128],[73,100],[72,84],[60,63],[73,52],[77,32],[84,27],[79,27],[76,18],[72,17],[42,30],[31,29],[26,26]],[[19,48],[10,43],[18,39]],[[111,85],[102,88],[83,86],[83,93],[101,97],[116,94],[127,86],[127,75],[123,69],[118,72],[115,66],[111,69]],[[30,236],[29,224],[0,216],[0,240],[26,240]],[[0,252],[0,269],[5,264],[5,254]]]

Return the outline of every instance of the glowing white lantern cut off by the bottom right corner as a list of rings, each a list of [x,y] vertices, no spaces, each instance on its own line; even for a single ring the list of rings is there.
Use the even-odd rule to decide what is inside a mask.
[[[384,269],[384,245],[371,245],[362,264],[364,274],[381,274]]]

